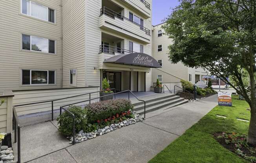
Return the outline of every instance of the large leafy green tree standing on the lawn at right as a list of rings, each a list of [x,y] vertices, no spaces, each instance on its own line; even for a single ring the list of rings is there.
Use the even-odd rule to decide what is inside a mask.
[[[205,67],[243,95],[251,107],[247,141],[256,145],[256,0],[180,0],[162,27],[173,40],[174,63]],[[248,72],[250,87],[243,83]],[[226,77],[231,76],[235,84]],[[237,87],[239,89],[237,89]],[[252,88],[252,89],[251,89]]]

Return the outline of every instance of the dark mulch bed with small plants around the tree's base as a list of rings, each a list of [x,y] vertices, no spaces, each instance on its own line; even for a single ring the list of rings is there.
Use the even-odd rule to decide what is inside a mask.
[[[218,138],[218,136],[221,136],[222,135],[222,132],[217,132],[217,133],[214,133],[213,136],[214,138],[219,142],[219,144],[221,144],[223,147],[225,147],[226,149],[230,150],[231,152],[236,153],[236,145],[235,143],[226,143],[225,141],[225,138]],[[238,137],[239,138],[239,137]],[[254,151],[256,152],[256,145],[249,145],[249,148],[253,148]],[[252,153],[250,150],[249,150],[248,147],[245,147],[245,146],[241,146],[239,149],[243,152],[243,154],[245,154],[246,156],[254,156],[256,157],[256,153]],[[240,156],[239,154],[237,154],[238,156]],[[240,156],[242,157],[242,156]],[[243,158],[243,157],[242,157]],[[256,161],[251,161],[252,163],[256,163]]]

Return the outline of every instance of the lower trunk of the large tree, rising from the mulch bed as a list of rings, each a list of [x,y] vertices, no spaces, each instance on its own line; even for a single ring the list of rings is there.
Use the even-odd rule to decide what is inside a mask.
[[[255,110],[256,108],[254,108]],[[251,108],[252,110],[252,108]],[[251,114],[247,142],[256,145],[256,114]]]

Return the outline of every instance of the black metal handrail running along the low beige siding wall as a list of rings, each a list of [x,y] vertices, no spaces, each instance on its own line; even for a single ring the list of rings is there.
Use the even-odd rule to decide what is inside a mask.
[[[114,90],[114,93],[115,93],[115,88],[112,88],[112,89],[109,89],[109,90]],[[73,98],[73,97],[78,97],[78,96],[84,96],[84,95],[88,95],[88,94],[89,94],[89,103],[91,103],[91,94],[93,94],[93,93],[98,93],[98,92],[102,92],[102,91],[107,91],[107,90],[101,90],[101,91],[96,91],[96,92],[90,92],[90,93],[85,93],[85,94],[79,94],[79,95],[76,95],[76,96],[65,97],[65,98],[59,98],[59,99],[55,99],[55,100],[48,100],[48,101],[41,101],[41,102],[34,102],[34,103],[25,103],[25,104],[21,104],[21,105],[15,105],[15,107],[20,107],[20,106],[25,106],[25,105],[33,105],[33,104],[38,104],[38,103],[47,103],[47,102],[51,102],[51,120],[53,121],[53,102],[54,102],[54,101],[64,100],[64,99],[68,99],[68,98]]]

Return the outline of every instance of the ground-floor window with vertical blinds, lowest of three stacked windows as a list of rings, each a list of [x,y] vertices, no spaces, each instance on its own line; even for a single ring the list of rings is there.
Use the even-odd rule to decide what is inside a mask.
[[[22,70],[22,85],[55,84],[55,71]]]

